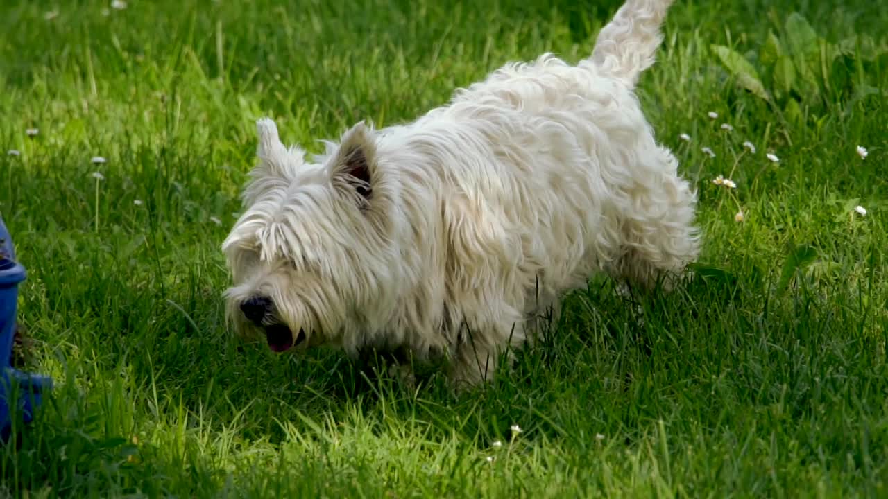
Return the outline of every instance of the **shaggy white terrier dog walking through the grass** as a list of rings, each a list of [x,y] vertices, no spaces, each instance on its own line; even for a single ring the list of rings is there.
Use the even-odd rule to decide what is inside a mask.
[[[258,122],[222,245],[227,316],[275,352],[443,354],[489,379],[593,273],[650,288],[698,253],[695,193],[633,89],[672,0],[628,0],[590,59],[508,64],[413,123],[362,123],[306,161]]]

